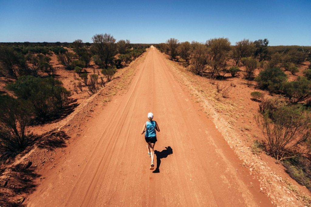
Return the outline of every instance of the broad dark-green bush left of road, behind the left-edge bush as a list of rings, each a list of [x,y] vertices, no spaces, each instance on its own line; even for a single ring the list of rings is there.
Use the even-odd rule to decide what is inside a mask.
[[[21,76],[7,88],[18,98],[30,101],[36,115],[43,118],[62,108],[64,101],[70,95],[70,92],[63,87],[63,83],[53,77]]]

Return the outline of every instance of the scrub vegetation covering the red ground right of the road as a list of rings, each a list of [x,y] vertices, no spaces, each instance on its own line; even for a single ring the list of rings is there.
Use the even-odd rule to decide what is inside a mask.
[[[171,38],[156,47],[187,70],[216,83],[220,94],[226,89],[221,81],[227,79],[244,79],[248,87],[252,86],[255,90],[251,97],[258,102],[260,112],[256,122],[264,139],[256,140],[251,151],[266,151],[311,190],[310,46],[269,46],[268,39],[243,39],[231,45],[227,38],[205,43],[179,43]],[[302,69],[305,64],[309,67]],[[272,98],[265,95],[266,91]],[[230,97],[230,93],[228,90],[223,97]]]

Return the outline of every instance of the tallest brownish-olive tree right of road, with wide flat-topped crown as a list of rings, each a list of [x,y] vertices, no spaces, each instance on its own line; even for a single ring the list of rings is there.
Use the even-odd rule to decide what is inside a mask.
[[[215,38],[206,41],[207,53],[209,55],[208,71],[211,78],[218,76],[220,71],[225,70],[230,42],[228,38]]]

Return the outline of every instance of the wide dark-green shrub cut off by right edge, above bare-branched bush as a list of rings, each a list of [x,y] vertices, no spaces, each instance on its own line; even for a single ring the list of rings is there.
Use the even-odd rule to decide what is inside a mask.
[[[290,103],[298,103],[311,97],[311,81],[298,76],[296,81],[285,82],[282,90]]]

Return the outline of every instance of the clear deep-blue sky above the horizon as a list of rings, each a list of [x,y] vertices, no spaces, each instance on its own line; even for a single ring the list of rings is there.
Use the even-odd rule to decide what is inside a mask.
[[[101,33],[131,43],[227,37],[311,45],[311,0],[0,0],[0,42],[92,42]]]

